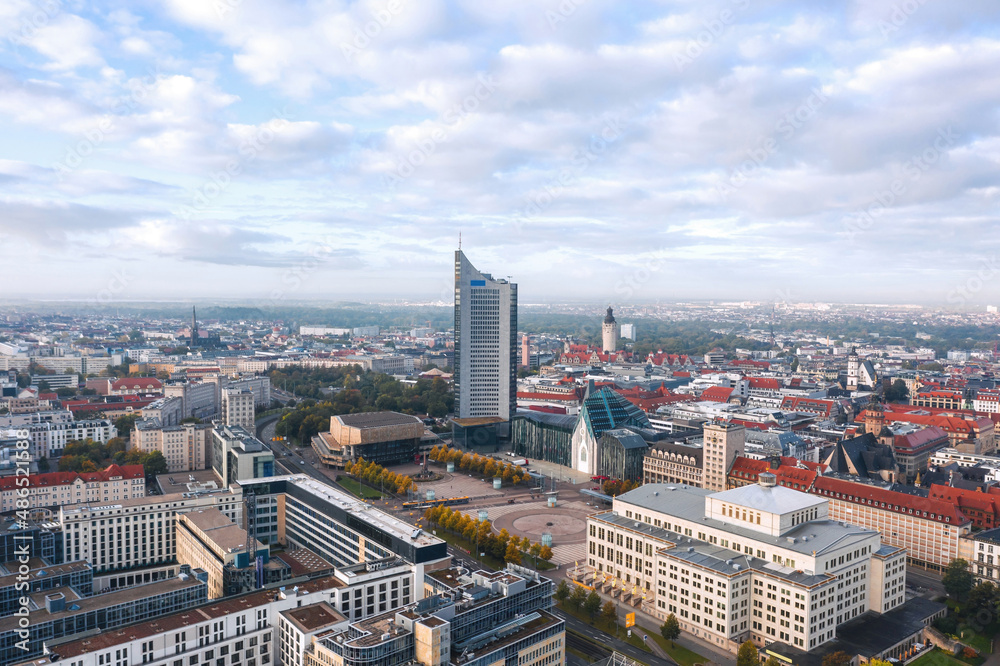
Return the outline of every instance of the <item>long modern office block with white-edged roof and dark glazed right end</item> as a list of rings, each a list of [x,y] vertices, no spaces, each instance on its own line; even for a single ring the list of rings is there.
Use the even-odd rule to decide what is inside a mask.
[[[426,567],[448,557],[436,536],[311,477],[276,476],[240,485],[255,495],[258,513],[275,508],[273,521],[258,518],[262,542],[307,548],[337,566],[400,557],[414,565],[417,582]]]

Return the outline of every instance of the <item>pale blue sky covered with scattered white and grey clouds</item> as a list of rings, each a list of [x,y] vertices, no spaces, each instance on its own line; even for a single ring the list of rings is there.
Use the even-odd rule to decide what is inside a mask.
[[[995,0],[0,3],[7,297],[1000,301]]]

